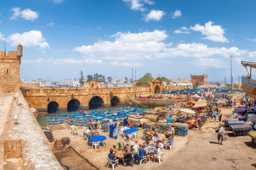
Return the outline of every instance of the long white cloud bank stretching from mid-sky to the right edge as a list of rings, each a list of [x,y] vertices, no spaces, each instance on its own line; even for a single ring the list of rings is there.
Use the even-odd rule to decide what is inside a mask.
[[[185,28],[183,28],[185,29]],[[98,41],[92,45],[75,47],[73,50],[81,52],[85,57],[115,59],[115,60],[144,60],[167,57],[212,57],[221,55],[229,57],[255,53],[248,50],[240,50],[237,47],[208,47],[203,43],[181,43],[172,47],[172,43],[164,43],[168,38],[166,32],[155,30],[143,33],[118,32],[111,37],[114,41]]]

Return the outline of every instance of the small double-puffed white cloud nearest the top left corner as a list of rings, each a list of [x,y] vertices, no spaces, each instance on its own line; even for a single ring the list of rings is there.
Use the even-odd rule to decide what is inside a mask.
[[[24,9],[23,11],[20,8],[12,8],[11,11],[13,12],[12,17],[10,19],[17,19],[21,17],[25,20],[35,21],[38,18],[38,12],[32,11],[30,9]]]

